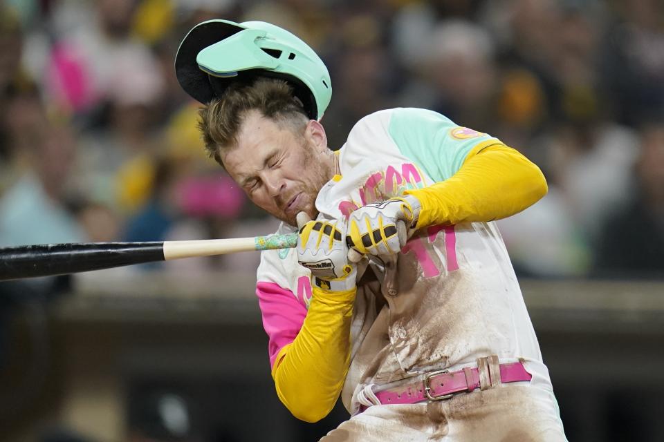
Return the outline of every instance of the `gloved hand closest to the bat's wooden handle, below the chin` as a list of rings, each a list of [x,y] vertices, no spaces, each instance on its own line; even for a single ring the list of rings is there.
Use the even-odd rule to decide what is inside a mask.
[[[357,269],[348,260],[346,223],[343,220],[311,221],[297,214],[297,262],[311,270],[311,282],[326,291],[347,291],[356,285]]]

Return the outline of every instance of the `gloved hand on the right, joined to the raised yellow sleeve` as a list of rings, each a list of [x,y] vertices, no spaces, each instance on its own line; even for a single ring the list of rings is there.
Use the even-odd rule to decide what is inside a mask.
[[[349,217],[347,242],[363,255],[394,255],[405,246],[420,208],[419,200],[412,195],[362,206]]]

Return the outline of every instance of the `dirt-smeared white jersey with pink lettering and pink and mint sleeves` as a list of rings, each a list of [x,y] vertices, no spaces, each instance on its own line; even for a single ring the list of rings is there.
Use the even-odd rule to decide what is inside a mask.
[[[368,115],[340,150],[341,179],[328,182],[319,218],[347,217],[354,209],[430,186],[457,173],[472,148],[501,144],[423,109],[396,108]],[[279,233],[295,228],[282,224]],[[383,297],[379,282],[358,285],[351,325],[351,366],[342,390],[349,412],[357,394],[436,369],[461,369],[495,354],[521,359],[531,385],[551,392],[548,370],[500,233],[493,222],[433,226],[418,231],[398,256],[400,293]],[[309,272],[293,249],[264,251],[257,295],[270,363],[293,342],[311,298]],[[553,394],[551,395],[553,398]]]

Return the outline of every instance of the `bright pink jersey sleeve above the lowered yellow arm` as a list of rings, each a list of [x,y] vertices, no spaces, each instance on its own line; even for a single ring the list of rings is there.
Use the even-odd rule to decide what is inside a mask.
[[[273,367],[279,351],[292,343],[302,328],[306,308],[298,302],[292,291],[274,282],[259,281],[256,294],[263,316],[263,327],[269,338],[270,367]]]

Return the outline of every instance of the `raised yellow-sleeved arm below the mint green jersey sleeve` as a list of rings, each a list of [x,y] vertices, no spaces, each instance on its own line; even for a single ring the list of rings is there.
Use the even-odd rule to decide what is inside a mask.
[[[465,161],[443,182],[406,194],[422,204],[417,228],[506,218],[547,192],[540,168],[507,146],[490,146]]]

